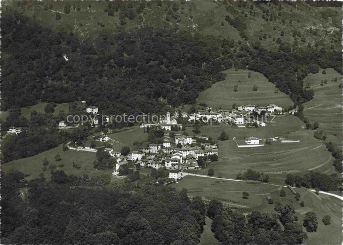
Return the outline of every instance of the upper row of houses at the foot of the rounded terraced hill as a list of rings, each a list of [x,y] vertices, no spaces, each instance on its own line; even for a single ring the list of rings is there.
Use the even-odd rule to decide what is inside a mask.
[[[237,106],[233,110],[212,110],[212,107],[207,107],[205,110],[198,111],[193,114],[182,113],[182,117],[186,118],[190,122],[212,122],[218,123],[235,123],[238,126],[249,125],[256,123],[258,126],[266,126],[267,124],[261,119],[250,118],[250,114],[256,112],[258,115],[271,116],[273,114],[282,113],[282,107],[275,104],[270,104],[266,106],[257,106],[257,105],[242,105]]]

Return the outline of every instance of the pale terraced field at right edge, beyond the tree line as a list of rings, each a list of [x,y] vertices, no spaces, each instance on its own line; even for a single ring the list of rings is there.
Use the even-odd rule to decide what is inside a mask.
[[[315,91],[315,96],[304,104],[304,115],[310,122],[319,123],[319,130],[323,130],[327,135],[327,141],[331,141],[336,146],[342,146],[342,89],[339,84],[342,82],[341,74],[333,69],[326,69],[326,74],[309,74],[304,79],[304,85],[308,85]],[[331,81],[336,78],[337,81]],[[322,83],[324,80],[327,83]],[[320,86],[322,83],[323,86]]]

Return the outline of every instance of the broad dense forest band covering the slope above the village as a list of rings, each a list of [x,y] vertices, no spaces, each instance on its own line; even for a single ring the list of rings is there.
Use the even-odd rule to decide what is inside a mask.
[[[113,115],[160,112],[166,105],[194,103],[232,67],[264,74],[299,104],[313,98],[312,90],[303,89],[307,73],[342,68],[334,50],[271,52],[258,41],[249,46],[229,39],[217,47],[172,29],[147,27],[80,42],[72,32],[54,33],[12,14],[3,18],[1,31],[2,110],[84,99]]]

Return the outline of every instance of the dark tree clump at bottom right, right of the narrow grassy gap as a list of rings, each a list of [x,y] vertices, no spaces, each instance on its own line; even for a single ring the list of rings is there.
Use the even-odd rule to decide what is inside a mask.
[[[301,244],[307,235],[295,221],[294,206],[277,204],[275,211],[279,214],[253,211],[245,218],[242,213],[212,200],[207,215],[213,219],[211,229],[221,244]]]

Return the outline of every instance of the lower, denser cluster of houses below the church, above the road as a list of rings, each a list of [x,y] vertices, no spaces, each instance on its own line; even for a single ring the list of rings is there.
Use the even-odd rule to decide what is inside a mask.
[[[108,150],[112,156],[117,157],[116,172],[114,174],[117,174],[119,168],[123,164],[127,164],[128,160],[139,164],[141,167],[147,166],[154,169],[166,168],[181,171],[183,169],[199,169],[197,163],[199,157],[218,155],[217,146],[200,143],[195,147],[191,146],[192,143],[195,142],[193,142],[191,136],[177,134],[172,139],[169,133],[165,133],[162,144],[149,144],[146,147],[140,147],[139,151],[131,151],[128,156],[121,156],[120,153],[114,152],[113,149]],[[178,175],[176,174],[176,176]]]

